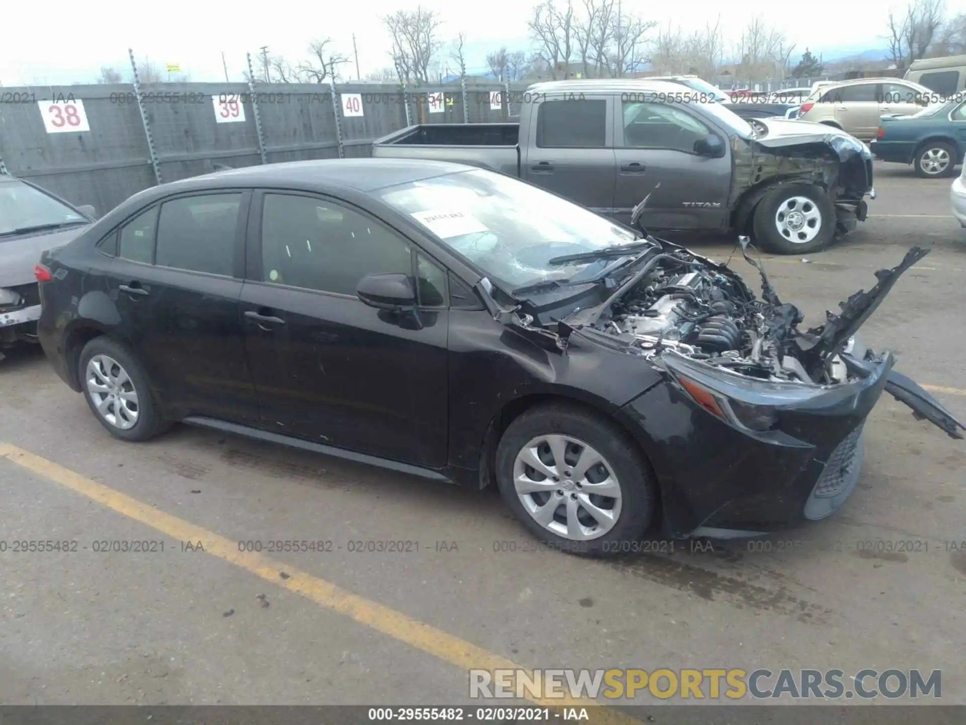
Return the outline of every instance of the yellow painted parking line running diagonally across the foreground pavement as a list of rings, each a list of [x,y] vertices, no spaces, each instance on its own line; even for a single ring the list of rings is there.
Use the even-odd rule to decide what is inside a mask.
[[[159,511],[155,507],[133,499],[120,491],[115,491],[113,488],[108,488],[90,478],[85,478],[27,450],[9,444],[0,444],[0,458],[7,458],[18,466],[33,471],[44,478],[49,478],[66,488],[70,488],[71,491],[124,514],[128,518],[146,524],[162,534],[192,543],[201,541],[205,552],[208,554],[239,566],[276,586],[301,594],[316,604],[387,634],[417,650],[439,657],[444,662],[456,665],[464,670],[480,668],[492,671],[503,668],[520,668],[520,665],[495,652],[489,652],[430,624],[414,620],[412,617],[390,609],[379,602],[352,594],[327,582],[325,579],[301,571],[295,566],[282,564],[254,552],[241,552],[238,550],[237,542],[213,534],[213,532],[188,523],[177,516]],[[285,571],[288,578],[283,579],[279,574],[280,571]],[[529,675],[532,677],[532,672]],[[592,700],[570,697],[527,699],[541,707],[548,708],[593,707],[595,722],[627,723],[628,725],[631,723],[639,725],[640,723],[636,718],[619,710],[598,705]]]

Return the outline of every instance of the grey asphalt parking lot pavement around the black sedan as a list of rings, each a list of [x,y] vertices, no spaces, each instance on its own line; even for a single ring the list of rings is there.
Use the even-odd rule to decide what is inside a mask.
[[[765,265],[817,324],[930,246],[864,337],[966,418],[951,182],[877,163],[857,232]],[[726,259],[732,244],[696,248]],[[23,351],[0,362],[0,703],[460,704],[469,667],[515,664],[938,669],[942,701],[966,704],[964,463],[963,441],[884,396],[833,517],[753,544],[588,561],[536,545],[495,491],[185,426],[122,443]],[[14,552],[17,540],[76,550]]]

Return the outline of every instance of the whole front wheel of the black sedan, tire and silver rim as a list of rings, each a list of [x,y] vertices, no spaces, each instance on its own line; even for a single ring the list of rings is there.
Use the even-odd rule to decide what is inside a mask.
[[[612,420],[566,403],[510,423],[497,482],[533,536],[575,554],[631,551],[654,515],[657,485],[637,445]]]

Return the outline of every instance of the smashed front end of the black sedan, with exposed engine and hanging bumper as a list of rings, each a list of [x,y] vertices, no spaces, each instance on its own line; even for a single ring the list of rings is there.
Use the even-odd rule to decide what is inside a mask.
[[[641,255],[603,304],[551,324],[526,304],[498,312],[504,324],[567,355],[591,344],[637,356],[664,381],[624,412],[644,431],[672,536],[756,536],[817,520],[852,493],[863,429],[883,391],[961,439],[963,423],[856,338],[899,275],[928,252],[913,247],[877,282],[815,328],[784,303],[768,276],[756,297],[740,275],[690,250],[647,237]],[[579,341],[578,341],[579,340]],[[642,443],[643,445],[643,443]]]

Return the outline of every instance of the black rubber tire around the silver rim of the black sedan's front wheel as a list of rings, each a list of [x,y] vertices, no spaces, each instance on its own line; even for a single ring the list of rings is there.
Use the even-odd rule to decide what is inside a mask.
[[[559,536],[535,521],[517,495],[513,478],[518,453],[532,439],[553,434],[570,436],[595,449],[617,479],[621,507],[616,522],[603,535],[582,540]],[[497,447],[497,483],[503,500],[530,534],[554,548],[590,557],[634,551],[634,542],[640,540],[654,517],[658,490],[650,462],[619,425],[568,403],[531,408],[507,426]],[[561,502],[566,504],[563,498]],[[582,513],[589,515],[585,510]]]

